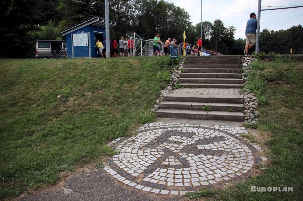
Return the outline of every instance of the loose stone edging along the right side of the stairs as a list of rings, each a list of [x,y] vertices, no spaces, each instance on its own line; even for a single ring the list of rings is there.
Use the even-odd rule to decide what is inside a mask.
[[[251,90],[245,88],[246,81],[248,80],[248,73],[250,71],[250,65],[256,59],[249,57],[242,57],[242,67],[243,67],[243,90],[242,94],[244,95],[244,120],[248,125],[255,125],[258,121],[259,113],[257,111],[258,100],[256,94]]]

